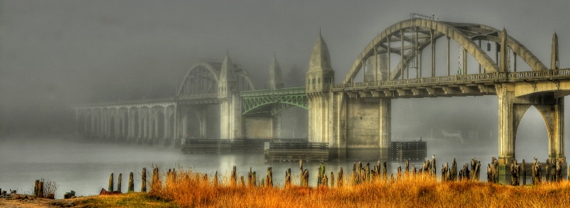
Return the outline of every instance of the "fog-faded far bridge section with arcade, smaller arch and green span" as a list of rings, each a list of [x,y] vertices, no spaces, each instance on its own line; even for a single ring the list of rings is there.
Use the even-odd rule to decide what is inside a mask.
[[[180,143],[181,138],[281,138],[280,112],[307,108],[304,87],[283,89],[276,58],[266,89],[255,90],[247,70],[227,55],[200,60],[174,97],[76,106],[79,134],[139,143]]]

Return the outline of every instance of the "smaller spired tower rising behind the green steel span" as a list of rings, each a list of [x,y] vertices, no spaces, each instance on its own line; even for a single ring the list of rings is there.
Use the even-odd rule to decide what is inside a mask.
[[[267,79],[266,88],[267,89],[281,89],[284,83],[281,79],[281,67],[279,67],[279,62],[277,58],[273,55],[273,59],[269,64],[269,77]],[[272,106],[276,111],[277,106]],[[271,138],[281,138],[281,113],[271,116]]]

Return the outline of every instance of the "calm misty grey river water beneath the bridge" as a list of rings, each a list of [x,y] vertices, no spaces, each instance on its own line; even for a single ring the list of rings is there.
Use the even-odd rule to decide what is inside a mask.
[[[427,143],[427,155],[436,155],[438,174],[442,163],[450,162],[457,157],[458,168],[476,157],[482,162],[481,178],[485,180],[486,164],[497,154],[496,148],[473,148],[456,146],[442,148],[438,143]],[[345,175],[352,170],[352,165],[358,161],[327,162],[326,171],[334,171],[337,175],[343,167]],[[363,161],[363,163],[376,161]],[[152,173],[152,164],[158,165],[160,171],[168,168],[184,168],[212,175],[229,175],[232,166],[237,166],[238,175],[247,175],[249,168],[257,171],[258,176],[264,176],[267,167],[271,166],[274,183],[284,184],[287,168],[291,168],[294,178],[299,175],[299,162],[266,163],[263,153],[244,154],[182,154],[180,149],[163,146],[147,146],[133,143],[85,142],[62,138],[6,138],[0,141],[0,188],[2,190],[17,190],[19,193],[31,193],[33,182],[44,179],[59,185],[57,198],[62,198],[65,192],[74,190],[76,195],[98,195],[102,188],[107,189],[110,173],[115,175],[115,189],[119,173],[123,174],[123,191],[127,190],[128,175],[135,176],[135,190],[140,190],[140,175],[142,168],[147,168],[147,177]],[[423,163],[411,163],[419,167]],[[316,173],[320,163],[304,163],[309,169],[309,182],[316,184]],[[391,173],[401,163],[389,163]],[[410,165],[410,168],[411,168]],[[389,173],[388,173],[389,174]]]

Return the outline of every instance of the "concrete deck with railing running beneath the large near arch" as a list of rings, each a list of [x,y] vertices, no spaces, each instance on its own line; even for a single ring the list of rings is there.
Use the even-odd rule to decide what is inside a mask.
[[[334,84],[333,92],[346,92],[359,97],[451,97],[496,94],[494,84],[502,82],[539,82],[566,80],[570,69],[530,72],[492,72],[446,77],[423,77],[408,80],[386,80]]]

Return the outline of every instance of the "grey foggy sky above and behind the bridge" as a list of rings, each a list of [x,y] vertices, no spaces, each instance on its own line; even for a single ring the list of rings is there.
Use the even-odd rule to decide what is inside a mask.
[[[339,83],[375,35],[410,13],[504,27],[547,66],[556,31],[561,68],[570,67],[569,1],[430,2],[0,1],[1,124],[39,122],[36,115],[53,106],[171,96],[199,58],[221,61],[226,53],[257,87],[264,86],[274,54],[284,77],[296,65],[304,80],[319,31]],[[393,135],[405,134],[400,124],[415,122],[424,130],[496,131],[497,111],[492,96],[397,100]],[[521,125],[538,129],[529,137],[544,137],[544,122],[529,112]],[[458,116],[466,119],[453,119]]]

